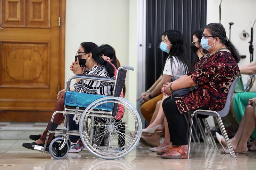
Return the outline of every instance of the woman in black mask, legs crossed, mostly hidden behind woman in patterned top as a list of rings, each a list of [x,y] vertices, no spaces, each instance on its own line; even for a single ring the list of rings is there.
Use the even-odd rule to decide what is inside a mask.
[[[196,59],[195,59],[195,62],[192,64],[193,65],[192,69],[194,69],[195,64],[205,54],[205,50],[202,48],[202,45],[201,45],[202,37],[203,37],[203,30],[197,30],[192,34],[192,44],[190,45],[190,49],[193,53],[196,54]],[[169,151],[170,148],[172,148],[172,146],[169,146],[171,144],[170,134],[169,134],[168,124],[165,119],[164,111],[163,111],[163,107],[162,107],[163,100],[167,97],[168,96],[164,96],[162,100],[157,102],[156,108],[159,108],[159,109],[155,110],[149,126],[146,129],[142,129],[142,137],[141,138],[148,144],[156,144],[160,139],[160,135],[154,134],[154,132],[161,131],[163,128],[161,126],[159,127],[159,125],[161,125],[164,122],[164,128],[165,128],[164,142],[157,147],[148,149],[153,152],[158,152],[157,154],[165,153],[165,152]],[[156,127],[158,127],[158,128],[156,129]],[[145,135],[145,132],[148,132],[148,131],[150,131],[151,134],[153,132],[154,135],[147,137],[147,134]],[[143,135],[145,135],[145,136],[143,136]]]

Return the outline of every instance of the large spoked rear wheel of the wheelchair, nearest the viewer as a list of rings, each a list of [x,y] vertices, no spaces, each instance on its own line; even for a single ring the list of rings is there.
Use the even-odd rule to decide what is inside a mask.
[[[122,116],[121,120],[116,116]],[[80,119],[79,133],[88,151],[103,159],[118,159],[137,146],[141,136],[137,110],[124,98],[104,97],[92,102]]]

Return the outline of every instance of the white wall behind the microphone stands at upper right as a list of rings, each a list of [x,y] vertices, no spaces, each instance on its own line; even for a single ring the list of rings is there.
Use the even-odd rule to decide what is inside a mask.
[[[221,0],[207,0],[207,24],[219,22],[219,5]],[[255,0],[223,0],[221,3],[221,24],[225,27],[229,38],[229,22],[233,22],[231,26],[231,41],[239,50],[241,55],[246,58],[241,59],[238,63],[239,67],[250,63],[249,53],[249,37],[246,40],[240,39],[243,30],[251,35],[251,27],[256,18],[256,1]],[[256,47],[256,24],[254,26],[254,47]],[[255,48],[256,49],[256,48]],[[256,52],[254,50],[254,59]],[[243,75],[243,82],[247,82],[247,75]]]

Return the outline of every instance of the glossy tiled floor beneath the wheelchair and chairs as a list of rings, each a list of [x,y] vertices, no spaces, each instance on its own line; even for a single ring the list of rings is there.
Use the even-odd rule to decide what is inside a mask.
[[[256,169],[256,152],[237,154],[237,161],[230,154],[221,154],[205,145],[192,143],[191,156],[187,159],[161,159],[147,146],[136,149],[116,160],[94,157],[87,151],[69,154],[56,160],[51,155],[23,148],[29,140],[0,140],[0,169],[8,170],[77,170],[77,169]],[[218,145],[220,147],[220,145]],[[8,166],[9,165],[9,166]]]

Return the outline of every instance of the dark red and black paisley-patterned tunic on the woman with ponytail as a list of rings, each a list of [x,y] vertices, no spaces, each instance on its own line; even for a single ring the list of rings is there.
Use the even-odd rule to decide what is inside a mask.
[[[180,114],[199,107],[209,107],[209,110],[214,111],[223,109],[229,87],[240,76],[240,70],[231,53],[219,51],[213,55],[204,55],[196,63],[195,70],[187,75],[191,76],[198,88],[174,98]]]

